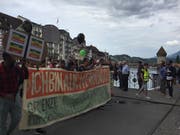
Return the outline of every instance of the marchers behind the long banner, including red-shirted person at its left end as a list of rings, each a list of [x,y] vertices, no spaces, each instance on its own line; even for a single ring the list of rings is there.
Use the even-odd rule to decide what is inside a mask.
[[[94,60],[84,58],[82,61],[71,59],[67,63],[64,60],[51,61],[47,63],[30,64],[22,58],[16,61],[15,58],[7,52],[2,54],[3,61],[0,63],[0,135],[10,135],[17,127],[21,119],[23,81],[28,79],[28,67],[59,68],[68,71],[87,71],[94,68],[100,68],[103,65],[111,65],[104,59]],[[7,125],[8,115],[10,122]],[[38,128],[35,130],[39,134],[46,131]]]

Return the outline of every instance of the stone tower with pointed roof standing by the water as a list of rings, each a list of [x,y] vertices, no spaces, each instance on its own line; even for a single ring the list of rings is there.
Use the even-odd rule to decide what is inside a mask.
[[[157,64],[160,64],[161,61],[166,62],[167,53],[162,46],[159,49],[159,51],[156,53],[156,55],[157,55]]]

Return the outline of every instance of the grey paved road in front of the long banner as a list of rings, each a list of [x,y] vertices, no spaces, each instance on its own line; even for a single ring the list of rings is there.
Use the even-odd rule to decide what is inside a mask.
[[[126,96],[118,95],[118,89],[114,91],[116,96],[106,105],[46,127],[47,135],[180,135],[180,121],[177,121],[180,109],[176,100],[146,101],[132,97],[134,91]],[[34,131],[17,130],[13,135],[32,134]]]

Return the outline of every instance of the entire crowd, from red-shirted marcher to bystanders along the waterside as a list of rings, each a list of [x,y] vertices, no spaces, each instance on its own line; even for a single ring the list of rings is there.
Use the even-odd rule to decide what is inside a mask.
[[[34,65],[27,65],[25,59],[17,63],[7,52],[3,52],[2,57],[3,62],[0,63],[0,135],[10,135],[21,119],[22,84],[23,81],[29,77],[28,67],[34,67]],[[94,60],[92,58],[84,58],[82,61],[71,59],[68,62],[64,60],[48,60],[47,63],[36,65],[35,67],[60,68],[68,71],[81,72],[99,68],[103,65],[109,66],[112,80],[119,81],[119,88],[123,91],[128,91],[130,68],[127,61],[112,64],[110,60]],[[136,95],[139,96],[144,92],[146,98],[150,99],[148,96],[147,83],[149,79],[153,78],[150,76],[148,67],[148,63],[143,64],[140,61],[138,64],[137,81],[139,91]],[[160,77],[160,91],[166,95],[166,89],[168,89],[168,98],[172,98],[173,84],[175,83],[176,77],[179,79],[178,82],[180,83],[180,69],[176,70],[172,61],[169,61],[167,64],[162,61],[158,71]],[[8,114],[11,119],[9,126],[7,126]],[[36,131],[44,133],[42,129],[36,129]]]

